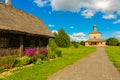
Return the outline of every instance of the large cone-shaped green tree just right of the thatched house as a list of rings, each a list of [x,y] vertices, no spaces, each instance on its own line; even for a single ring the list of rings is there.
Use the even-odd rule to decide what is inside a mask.
[[[65,33],[64,29],[60,29],[58,35],[55,38],[55,42],[59,47],[69,47],[70,37]]]

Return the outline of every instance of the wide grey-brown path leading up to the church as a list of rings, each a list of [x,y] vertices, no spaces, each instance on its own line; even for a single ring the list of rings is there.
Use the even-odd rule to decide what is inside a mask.
[[[48,80],[120,80],[120,73],[108,60],[104,48],[58,71]]]

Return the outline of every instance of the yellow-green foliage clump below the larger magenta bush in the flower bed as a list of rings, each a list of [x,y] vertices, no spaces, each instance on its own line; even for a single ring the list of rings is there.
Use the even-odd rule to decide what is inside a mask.
[[[32,63],[32,59],[28,56],[18,57],[16,58],[16,66],[24,66]]]

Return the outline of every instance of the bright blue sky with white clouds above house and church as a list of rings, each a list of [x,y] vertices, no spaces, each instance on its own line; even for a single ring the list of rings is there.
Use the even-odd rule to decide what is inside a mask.
[[[51,31],[64,28],[76,41],[88,39],[94,24],[103,39],[120,39],[119,3],[120,0],[12,0],[15,8],[37,16]]]

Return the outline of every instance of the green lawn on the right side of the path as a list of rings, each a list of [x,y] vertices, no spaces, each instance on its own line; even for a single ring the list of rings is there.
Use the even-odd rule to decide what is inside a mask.
[[[120,71],[120,47],[106,47],[106,52],[108,53],[110,60]]]

